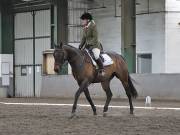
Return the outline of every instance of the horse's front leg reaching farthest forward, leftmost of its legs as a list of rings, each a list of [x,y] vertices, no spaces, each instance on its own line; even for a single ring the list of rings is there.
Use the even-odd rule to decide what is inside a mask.
[[[74,104],[72,107],[72,115],[71,118],[75,116],[75,112],[76,112],[76,108],[77,108],[77,101],[78,98],[80,96],[80,94],[88,87],[89,83],[87,80],[82,81],[82,83],[80,84],[80,87],[78,89],[78,91],[75,94],[75,99],[74,99]]]

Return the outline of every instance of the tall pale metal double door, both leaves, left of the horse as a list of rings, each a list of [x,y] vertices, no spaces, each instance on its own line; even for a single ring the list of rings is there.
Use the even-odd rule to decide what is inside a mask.
[[[42,52],[50,48],[50,10],[14,16],[15,96],[39,97]]]

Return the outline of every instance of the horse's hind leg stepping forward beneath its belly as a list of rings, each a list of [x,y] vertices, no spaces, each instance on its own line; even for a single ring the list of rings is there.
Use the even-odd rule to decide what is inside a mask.
[[[103,90],[106,92],[106,96],[107,96],[106,103],[104,105],[104,110],[103,110],[104,116],[106,116],[106,112],[108,111],[108,106],[112,98],[112,92],[110,89],[110,81],[102,82],[101,85],[102,85]]]

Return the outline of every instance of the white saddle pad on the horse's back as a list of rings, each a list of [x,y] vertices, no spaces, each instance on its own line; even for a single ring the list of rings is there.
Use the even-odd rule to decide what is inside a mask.
[[[90,55],[89,51],[86,50],[86,52],[87,52],[88,55],[90,56],[93,65],[94,65],[94,66],[97,66],[97,63],[94,61],[94,59],[93,59],[92,56]],[[111,59],[111,57],[110,57],[108,54],[103,53],[103,54],[101,54],[101,56],[104,58],[104,62],[103,62],[103,65],[104,65],[104,66],[109,66],[109,65],[112,65],[112,64],[114,63],[113,60]]]

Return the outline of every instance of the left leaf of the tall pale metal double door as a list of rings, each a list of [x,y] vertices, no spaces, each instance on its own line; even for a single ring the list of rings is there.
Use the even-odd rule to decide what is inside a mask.
[[[15,95],[33,96],[33,16],[18,13],[14,20]]]

